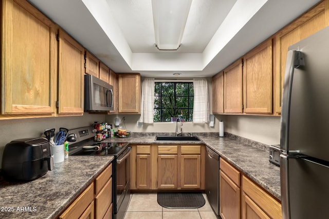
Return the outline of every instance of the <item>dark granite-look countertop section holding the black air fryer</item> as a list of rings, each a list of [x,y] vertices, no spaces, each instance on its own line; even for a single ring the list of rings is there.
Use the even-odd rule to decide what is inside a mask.
[[[0,218],[56,217],[113,158],[69,156],[34,181],[11,183],[0,180]]]

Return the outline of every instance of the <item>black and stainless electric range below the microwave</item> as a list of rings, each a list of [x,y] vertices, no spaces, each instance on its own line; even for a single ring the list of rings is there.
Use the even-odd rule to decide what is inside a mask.
[[[130,199],[129,143],[95,142],[93,128],[81,127],[69,130],[77,141],[69,145],[69,156],[114,156],[112,162],[113,218],[123,219]]]

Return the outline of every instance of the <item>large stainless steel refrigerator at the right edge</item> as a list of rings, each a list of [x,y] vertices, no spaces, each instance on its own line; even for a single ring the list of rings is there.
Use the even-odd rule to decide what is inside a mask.
[[[280,144],[283,218],[329,218],[329,28],[289,47]]]

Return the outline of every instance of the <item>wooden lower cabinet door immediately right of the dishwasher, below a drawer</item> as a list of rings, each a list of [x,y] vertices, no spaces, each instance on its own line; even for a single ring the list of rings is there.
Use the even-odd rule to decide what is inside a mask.
[[[240,218],[240,188],[220,171],[220,214],[223,219]]]

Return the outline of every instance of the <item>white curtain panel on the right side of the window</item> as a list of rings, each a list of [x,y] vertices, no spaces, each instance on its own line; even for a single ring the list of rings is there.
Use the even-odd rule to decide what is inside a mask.
[[[209,95],[206,78],[194,78],[193,123],[209,123]]]

